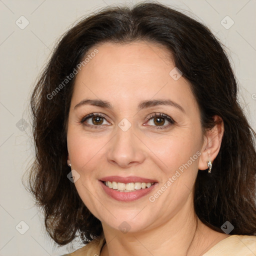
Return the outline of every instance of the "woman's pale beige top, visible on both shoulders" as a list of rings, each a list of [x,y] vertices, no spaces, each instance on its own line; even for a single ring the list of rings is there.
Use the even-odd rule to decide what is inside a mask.
[[[82,248],[63,256],[99,256],[105,243],[101,235]],[[256,236],[254,235],[230,235],[211,247],[202,256],[256,256]]]

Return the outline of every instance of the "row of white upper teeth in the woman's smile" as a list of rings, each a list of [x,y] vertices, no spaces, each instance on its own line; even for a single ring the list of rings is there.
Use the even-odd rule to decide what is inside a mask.
[[[134,191],[135,189],[141,189],[150,187],[153,183],[145,183],[145,182],[131,182],[131,183],[120,183],[115,181],[105,181],[104,184],[112,189],[117,189],[118,191],[128,192]]]

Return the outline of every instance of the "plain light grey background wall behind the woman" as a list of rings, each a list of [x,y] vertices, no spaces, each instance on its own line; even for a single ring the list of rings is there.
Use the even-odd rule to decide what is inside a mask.
[[[0,0],[0,256],[61,255],[72,250],[70,244],[62,248],[53,246],[45,233],[43,216],[21,182],[34,155],[29,95],[60,35],[82,16],[100,7],[124,2]],[[137,2],[126,1],[127,4]],[[255,129],[256,1],[159,2],[187,14],[191,12],[189,15],[206,24],[227,47],[240,85],[241,105]],[[29,23],[24,27],[26,22]]]

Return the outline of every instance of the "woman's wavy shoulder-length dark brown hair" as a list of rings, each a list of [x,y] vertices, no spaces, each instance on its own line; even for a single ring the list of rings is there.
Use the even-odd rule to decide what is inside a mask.
[[[63,80],[95,45],[136,40],[169,49],[190,83],[203,130],[213,127],[213,115],[223,119],[224,134],[211,174],[198,171],[196,178],[197,216],[220,232],[220,226],[228,220],[234,226],[231,234],[254,234],[255,132],[238,104],[237,83],[228,58],[203,24],[152,2],[132,8],[107,7],[81,20],[62,36],[34,88],[31,109],[36,158],[28,187],[43,208],[47,232],[58,244],[66,244],[76,235],[86,243],[102,232],[100,221],[67,178],[70,168],[66,164],[65,125],[75,77],[65,84]],[[61,83],[63,86],[59,86]]]

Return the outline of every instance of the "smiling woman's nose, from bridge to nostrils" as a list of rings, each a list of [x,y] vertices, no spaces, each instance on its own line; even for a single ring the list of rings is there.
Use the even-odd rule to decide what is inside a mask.
[[[129,168],[145,160],[145,146],[130,127],[127,131],[117,127],[116,135],[109,141],[107,161],[122,168]]]

